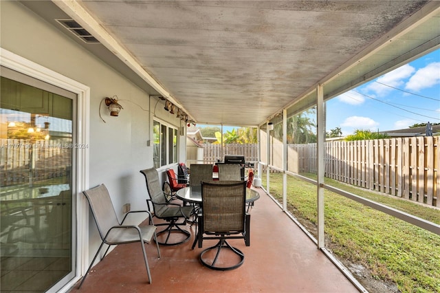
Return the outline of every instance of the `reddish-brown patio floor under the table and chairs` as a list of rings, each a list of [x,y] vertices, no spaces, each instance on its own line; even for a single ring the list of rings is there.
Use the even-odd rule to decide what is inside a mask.
[[[261,198],[250,212],[250,246],[243,239],[229,241],[245,254],[236,270],[215,271],[199,263],[202,249],[191,249],[193,226],[187,243],[160,246],[161,259],[157,259],[154,243],[146,246],[151,284],[140,244],[133,243],[118,246],[92,268],[78,292],[358,292],[272,199],[259,191]],[[203,241],[203,248],[210,241]]]

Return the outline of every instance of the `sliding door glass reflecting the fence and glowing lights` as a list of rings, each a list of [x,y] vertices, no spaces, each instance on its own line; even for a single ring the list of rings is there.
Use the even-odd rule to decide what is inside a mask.
[[[1,292],[45,292],[74,272],[74,100],[1,77]]]

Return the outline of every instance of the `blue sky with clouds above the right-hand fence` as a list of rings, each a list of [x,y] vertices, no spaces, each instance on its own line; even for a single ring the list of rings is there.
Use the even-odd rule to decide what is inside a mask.
[[[440,122],[440,49],[327,102],[327,131],[387,131]]]

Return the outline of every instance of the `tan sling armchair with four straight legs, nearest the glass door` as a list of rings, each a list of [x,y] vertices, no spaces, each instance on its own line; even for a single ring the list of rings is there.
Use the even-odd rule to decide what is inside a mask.
[[[148,281],[151,283],[150,268],[148,266],[148,260],[146,259],[144,243],[151,243],[152,238],[156,240],[156,226],[124,225],[126,217],[131,213],[147,213],[150,221],[152,222],[153,219],[151,213],[148,210],[131,210],[129,213],[126,213],[124,219],[122,219],[122,222],[119,222],[118,216],[115,213],[115,208],[111,203],[109,191],[104,184],[100,184],[99,186],[91,188],[87,191],[83,191],[83,194],[87,198],[87,202],[89,202],[91,213],[94,216],[96,226],[98,226],[98,232],[102,242],[95,254],[93,261],[91,261],[87,272],[83,276],[83,280],[78,286],[78,289],[81,287],[81,285],[83,285],[85,279],[87,278],[87,274],[89,274],[91,267],[94,265],[96,257],[98,257],[98,254],[102,246],[104,246],[104,243],[107,244],[108,247],[101,259],[104,259],[109,251],[110,246],[112,245],[140,242],[142,246],[142,254],[144,254]],[[159,246],[156,246],[157,254],[160,259]]]

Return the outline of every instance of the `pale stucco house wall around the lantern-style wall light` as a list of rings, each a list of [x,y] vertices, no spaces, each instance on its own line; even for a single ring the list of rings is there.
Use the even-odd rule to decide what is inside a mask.
[[[146,184],[139,171],[153,166],[153,144],[147,146],[147,140],[152,140],[153,116],[177,128],[179,119],[164,110],[163,101],[155,109],[157,99],[149,98],[148,93],[21,3],[1,1],[0,36],[3,49],[90,87],[89,187],[107,186],[120,219],[123,204],[130,203],[132,210],[146,209]],[[118,117],[111,117],[103,105],[104,123],[98,113],[100,102],[115,95],[124,109]],[[145,111],[148,109],[151,113]],[[186,140],[179,138],[179,162],[184,162]],[[91,217],[89,230],[89,255],[93,257],[100,240]]]

